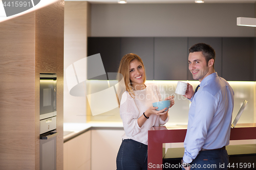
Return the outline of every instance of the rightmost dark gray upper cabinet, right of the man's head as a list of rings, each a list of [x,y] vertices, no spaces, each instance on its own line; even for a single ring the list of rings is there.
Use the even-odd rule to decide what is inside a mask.
[[[255,39],[223,38],[222,76],[229,81],[255,81]]]

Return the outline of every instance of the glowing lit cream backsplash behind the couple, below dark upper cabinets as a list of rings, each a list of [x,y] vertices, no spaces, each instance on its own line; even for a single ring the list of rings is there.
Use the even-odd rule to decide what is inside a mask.
[[[169,109],[169,121],[168,125],[187,125],[188,121],[188,110],[190,101],[184,96],[176,94],[176,85],[178,81],[146,81],[146,83],[154,83],[158,86],[162,100],[167,96],[174,94],[175,105]],[[200,84],[199,81],[184,81],[193,85],[194,89]],[[256,123],[256,82],[228,82],[234,90],[234,109],[232,120],[236,117],[240,107],[244,100],[248,101],[242,116],[238,123]],[[97,96],[102,96],[99,102],[97,102],[98,109],[101,109],[101,114],[92,114],[95,106],[92,106],[91,98],[88,99],[87,103],[87,122],[122,122],[119,115],[119,108],[113,107],[116,104],[111,104],[111,100],[115,100],[115,89],[117,89],[117,81],[104,81],[104,80],[88,80],[87,81],[87,94],[97,94]],[[106,92],[110,95],[105,96]],[[111,97],[112,96],[112,97]],[[99,97],[97,97],[99,98]],[[104,104],[109,103],[113,107],[102,107]],[[107,104],[108,105],[108,104]],[[109,106],[108,105],[108,106]],[[111,109],[111,110],[110,110]],[[95,112],[94,112],[95,113]]]

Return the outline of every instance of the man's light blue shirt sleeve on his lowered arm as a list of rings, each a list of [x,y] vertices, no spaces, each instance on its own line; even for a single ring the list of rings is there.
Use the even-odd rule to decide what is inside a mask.
[[[186,163],[193,161],[199,151],[201,151],[210,123],[218,106],[218,102],[214,96],[207,91],[200,91],[200,95],[194,96],[194,98],[194,122],[191,122],[190,128],[187,130],[185,138],[186,145],[184,145],[183,160]]]

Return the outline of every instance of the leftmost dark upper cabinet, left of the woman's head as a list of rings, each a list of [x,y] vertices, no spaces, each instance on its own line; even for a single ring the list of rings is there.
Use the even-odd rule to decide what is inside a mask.
[[[120,63],[120,43],[119,37],[88,37],[88,56],[100,53],[105,72],[117,72]],[[87,70],[87,75],[89,74],[90,70]],[[93,79],[106,80],[106,77],[98,76]]]

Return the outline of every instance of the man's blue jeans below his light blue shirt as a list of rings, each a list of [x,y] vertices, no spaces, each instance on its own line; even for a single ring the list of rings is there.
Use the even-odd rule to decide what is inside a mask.
[[[228,165],[227,150],[200,151],[190,165],[192,169],[226,170]],[[184,169],[184,168],[182,168]]]

